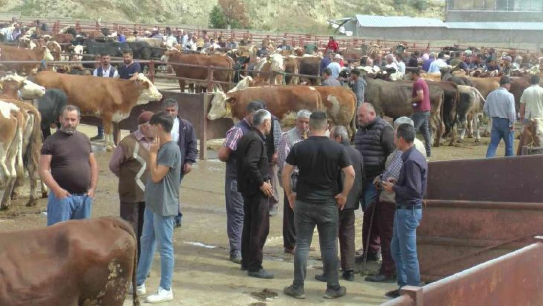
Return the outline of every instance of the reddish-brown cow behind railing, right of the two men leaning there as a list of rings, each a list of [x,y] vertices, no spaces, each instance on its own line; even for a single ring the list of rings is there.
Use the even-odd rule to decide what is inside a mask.
[[[230,68],[233,67],[233,60],[228,56],[223,55],[204,55],[204,54],[183,54],[178,51],[167,51],[162,61],[168,61],[169,63],[191,64],[201,66],[216,66]],[[175,71],[175,76],[178,78],[190,78],[205,81],[207,80],[208,68],[207,67],[187,67],[182,65],[172,65]],[[220,82],[232,82],[233,71],[232,70],[214,70],[213,80]],[[179,88],[181,92],[185,91],[186,80],[178,80]],[[202,82],[204,83],[204,82]],[[228,85],[220,84],[220,87],[226,90]]]

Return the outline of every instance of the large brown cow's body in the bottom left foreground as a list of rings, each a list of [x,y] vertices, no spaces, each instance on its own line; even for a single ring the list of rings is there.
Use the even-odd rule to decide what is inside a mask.
[[[0,305],[122,306],[136,295],[137,240],[116,217],[0,233]]]

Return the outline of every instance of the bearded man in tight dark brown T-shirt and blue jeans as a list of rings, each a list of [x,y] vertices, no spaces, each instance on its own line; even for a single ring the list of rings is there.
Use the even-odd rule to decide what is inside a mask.
[[[60,129],[49,136],[41,148],[39,174],[50,189],[48,226],[91,216],[98,164],[90,139],[76,130],[79,120],[79,108],[66,105],[59,118]]]

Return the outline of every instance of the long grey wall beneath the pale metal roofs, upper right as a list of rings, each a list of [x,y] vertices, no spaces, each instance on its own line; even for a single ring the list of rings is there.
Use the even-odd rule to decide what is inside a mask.
[[[447,28],[362,28],[356,36],[365,39],[414,41],[420,46],[472,45],[539,50],[543,46],[543,31],[538,30],[471,30]]]

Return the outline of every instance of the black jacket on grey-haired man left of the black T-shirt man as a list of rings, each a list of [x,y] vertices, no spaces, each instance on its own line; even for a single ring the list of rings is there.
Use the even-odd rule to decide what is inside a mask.
[[[254,196],[262,191],[260,186],[269,179],[266,140],[260,131],[250,130],[239,140],[237,151],[238,191],[244,196]]]

